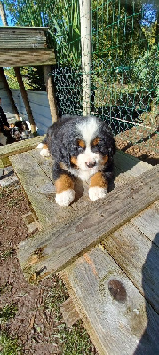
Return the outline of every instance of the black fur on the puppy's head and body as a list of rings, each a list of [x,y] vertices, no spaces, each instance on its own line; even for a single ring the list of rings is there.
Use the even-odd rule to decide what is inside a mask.
[[[66,172],[60,168],[60,162],[63,162],[68,169],[74,167],[71,163],[71,157],[77,157],[78,154],[83,153],[84,148],[78,146],[79,139],[83,139],[76,124],[84,122],[87,117],[79,116],[63,116],[55,122],[47,131],[44,143],[48,145],[50,154],[55,160],[53,167],[53,178],[56,180],[60,174]],[[108,156],[108,161],[103,167],[102,173],[109,181],[112,178],[113,170],[113,155],[115,154],[115,139],[112,132],[107,125],[107,122],[96,118],[98,122],[97,137],[100,138],[98,146],[91,146],[94,153]]]

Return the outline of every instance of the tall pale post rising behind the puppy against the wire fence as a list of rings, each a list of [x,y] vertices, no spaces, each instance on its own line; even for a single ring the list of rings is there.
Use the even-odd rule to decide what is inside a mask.
[[[83,115],[91,114],[91,0],[80,0]]]

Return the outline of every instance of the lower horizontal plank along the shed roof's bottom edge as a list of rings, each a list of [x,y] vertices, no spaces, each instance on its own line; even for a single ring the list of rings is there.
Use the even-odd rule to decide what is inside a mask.
[[[55,64],[54,50],[44,49],[6,49],[0,48],[0,67],[41,66]]]

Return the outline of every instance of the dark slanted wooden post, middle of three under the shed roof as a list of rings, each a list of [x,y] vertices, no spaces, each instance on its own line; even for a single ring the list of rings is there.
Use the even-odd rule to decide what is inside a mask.
[[[15,74],[17,76],[17,81],[18,81],[19,86],[20,86],[21,96],[22,96],[22,99],[24,101],[24,105],[25,105],[25,108],[26,108],[26,111],[27,111],[27,114],[28,114],[28,121],[29,121],[29,123],[31,125],[31,131],[32,131],[32,133],[36,134],[36,124],[35,124],[35,121],[34,121],[34,118],[33,118],[31,107],[29,105],[28,93],[27,93],[27,91],[26,91],[26,89],[24,87],[24,83],[22,81],[22,77],[21,77],[21,73],[20,73],[20,67],[14,67],[14,71],[15,71]]]

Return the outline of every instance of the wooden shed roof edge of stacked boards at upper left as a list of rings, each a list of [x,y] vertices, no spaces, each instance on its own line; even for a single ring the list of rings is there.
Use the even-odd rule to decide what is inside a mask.
[[[0,67],[54,64],[54,50],[47,45],[48,29],[0,27]]]

